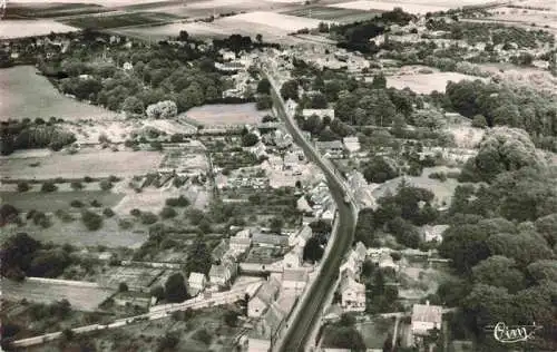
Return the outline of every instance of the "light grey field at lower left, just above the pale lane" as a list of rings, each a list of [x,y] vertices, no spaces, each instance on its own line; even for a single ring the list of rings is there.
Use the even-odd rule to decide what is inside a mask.
[[[99,287],[84,287],[58,283],[47,283],[26,280],[16,282],[2,280],[2,295],[6,299],[20,301],[27,299],[31,302],[52,303],[66,299],[72,309],[79,311],[95,311],[113,291]]]

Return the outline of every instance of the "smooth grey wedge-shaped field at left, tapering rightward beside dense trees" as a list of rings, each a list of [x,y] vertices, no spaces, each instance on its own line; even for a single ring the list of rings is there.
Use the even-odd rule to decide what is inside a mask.
[[[0,37],[4,33],[0,21]],[[50,30],[47,32],[49,33]],[[37,75],[32,66],[17,66],[0,69],[0,120],[8,118],[50,118],[56,116],[72,119],[107,119],[117,114],[68,98],[48,81]],[[32,104],[29,104],[32,101]]]

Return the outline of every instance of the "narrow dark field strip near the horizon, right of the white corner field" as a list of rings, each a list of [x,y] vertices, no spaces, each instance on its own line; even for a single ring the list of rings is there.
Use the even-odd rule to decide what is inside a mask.
[[[78,28],[110,29],[119,27],[146,26],[173,21],[180,17],[170,13],[134,12],[111,16],[88,16],[63,21]]]

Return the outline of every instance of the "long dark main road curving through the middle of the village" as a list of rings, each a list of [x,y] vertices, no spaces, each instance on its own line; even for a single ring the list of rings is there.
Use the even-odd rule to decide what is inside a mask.
[[[351,194],[344,188],[345,185],[333,169],[332,164],[324,160],[313,145],[303,137],[302,131],[294,121],[294,117],[285,107],[274,78],[266,72],[264,75],[267,76],[271,82],[274,106],[278,117],[284,120],[294,141],[303,148],[306,157],[323,170],[338,208],[339,227],[336,235],[331,236],[331,241],[329,241],[328,246],[331,246],[326,251],[329,255],[322,258],[319,276],[314,278],[314,283],[310,286],[309,291],[304,292],[305,297],[302,296],[299,301],[299,304],[302,304],[302,306],[300,310],[296,310],[297,314],[292,319],[290,326],[286,327],[286,333],[281,339],[282,343],[278,346],[278,351],[284,352],[304,351],[309,335],[321,316],[325,297],[334,286],[342,257],[352,245],[358,211],[352,202]],[[345,196],[351,199],[349,204],[344,203]]]

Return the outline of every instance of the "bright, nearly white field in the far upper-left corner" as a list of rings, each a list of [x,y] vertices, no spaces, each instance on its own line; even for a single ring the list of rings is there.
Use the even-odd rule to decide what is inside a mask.
[[[66,33],[77,28],[52,20],[2,20],[0,21],[0,39],[46,36],[50,32]]]

